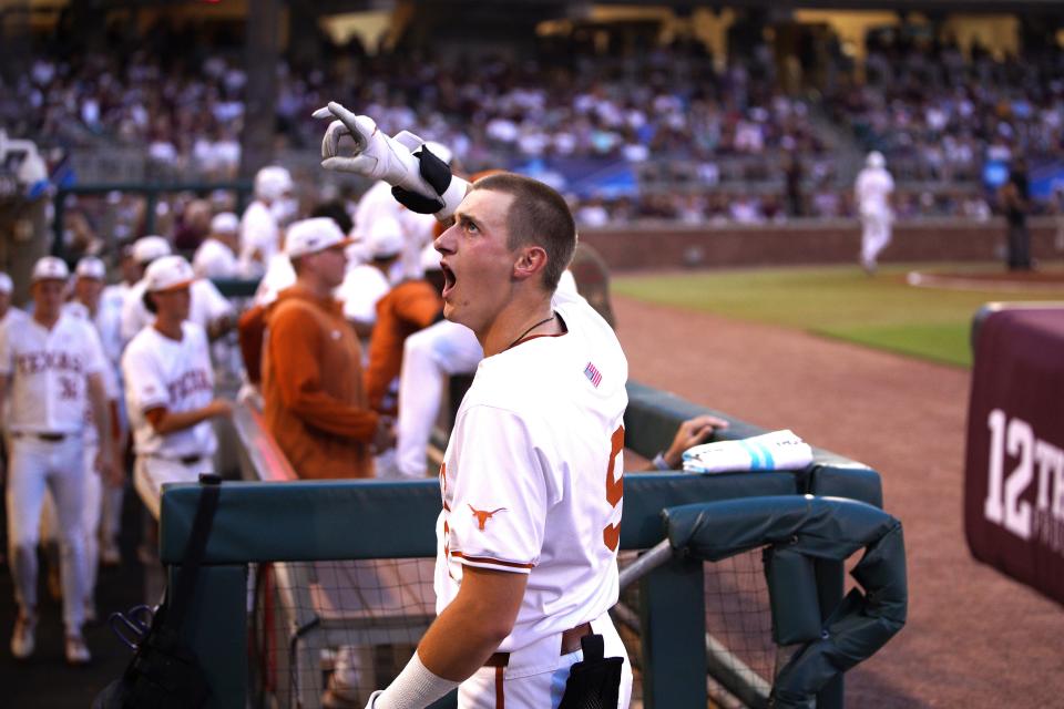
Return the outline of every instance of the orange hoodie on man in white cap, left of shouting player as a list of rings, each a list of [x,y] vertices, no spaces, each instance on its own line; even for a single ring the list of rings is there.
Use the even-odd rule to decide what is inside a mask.
[[[264,417],[300,477],[370,477],[377,413],[362,389],[361,349],[339,302],[296,285],[266,315]]]

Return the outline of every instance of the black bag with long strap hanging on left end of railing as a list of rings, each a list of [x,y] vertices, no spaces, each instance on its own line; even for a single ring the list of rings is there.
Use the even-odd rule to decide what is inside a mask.
[[[181,564],[176,593],[171,595],[167,588],[166,597],[152,617],[151,627],[135,644],[132,661],[121,678],[96,696],[92,709],[197,709],[206,705],[211,687],[195,655],[181,639],[181,626],[211,535],[221,483],[217,475],[200,475],[203,492]],[[119,621],[135,633],[136,627],[143,626],[135,619],[134,612],[129,614],[134,618],[132,621],[121,614],[112,615],[112,627],[115,627],[117,616]],[[127,641],[124,634],[119,635]]]

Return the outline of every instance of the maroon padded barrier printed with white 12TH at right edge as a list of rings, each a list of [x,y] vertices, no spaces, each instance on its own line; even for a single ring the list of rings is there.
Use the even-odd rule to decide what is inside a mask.
[[[991,311],[974,350],[969,548],[1064,604],[1064,304]]]

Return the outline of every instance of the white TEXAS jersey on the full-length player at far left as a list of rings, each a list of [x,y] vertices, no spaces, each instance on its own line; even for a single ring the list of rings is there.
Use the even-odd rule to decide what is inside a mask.
[[[76,433],[85,423],[89,376],[106,367],[95,329],[68,314],[49,330],[33,318],[0,328],[0,374],[11,376],[13,432]]]

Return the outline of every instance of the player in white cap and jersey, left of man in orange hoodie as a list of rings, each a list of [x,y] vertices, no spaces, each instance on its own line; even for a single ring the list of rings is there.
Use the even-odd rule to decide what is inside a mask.
[[[217,439],[211,419],[232,411],[229,402],[214,398],[203,328],[186,321],[194,278],[180,256],[164,256],[147,267],[144,299],[154,308],[155,321],[122,356],[136,452],[133,481],[156,520],[164,483],[195,482],[200,473],[213,472]]]

